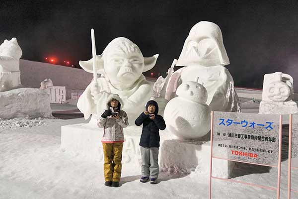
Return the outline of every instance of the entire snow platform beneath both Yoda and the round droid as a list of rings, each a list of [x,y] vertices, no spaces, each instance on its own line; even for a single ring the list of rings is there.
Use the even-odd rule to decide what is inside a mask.
[[[124,128],[125,142],[122,164],[134,167],[141,172],[140,136],[142,127]],[[62,126],[61,150],[74,156],[90,160],[103,161],[101,136],[103,129],[90,124],[73,124]],[[167,130],[160,131],[159,169],[169,173],[190,173],[198,170],[209,175],[210,142],[186,142],[174,139]],[[225,151],[223,152],[225,153]],[[227,153],[227,152],[226,152]],[[213,175],[227,178],[234,166],[233,162],[213,160]]]

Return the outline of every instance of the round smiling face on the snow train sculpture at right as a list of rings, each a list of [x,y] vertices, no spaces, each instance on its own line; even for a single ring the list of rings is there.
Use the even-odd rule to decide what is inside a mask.
[[[268,98],[272,101],[282,102],[289,98],[290,88],[284,82],[272,82],[267,87]]]

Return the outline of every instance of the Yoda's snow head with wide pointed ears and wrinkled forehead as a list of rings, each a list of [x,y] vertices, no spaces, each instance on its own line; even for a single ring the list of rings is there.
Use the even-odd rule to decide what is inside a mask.
[[[96,57],[96,69],[97,73],[104,74],[112,85],[131,85],[143,72],[153,68],[157,57],[158,54],[144,57],[135,43],[125,37],[118,37]],[[93,73],[92,59],[80,61],[79,64],[85,71]]]

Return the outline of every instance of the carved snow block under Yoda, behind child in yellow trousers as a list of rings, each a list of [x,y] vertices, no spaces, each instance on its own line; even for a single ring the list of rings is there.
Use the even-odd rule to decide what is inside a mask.
[[[142,127],[128,126],[124,131],[122,163],[140,166],[140,137]],[[61,127],[61,150],[72,155],[103,161],[101,137],[103,128],[90,123],[72,124]]]

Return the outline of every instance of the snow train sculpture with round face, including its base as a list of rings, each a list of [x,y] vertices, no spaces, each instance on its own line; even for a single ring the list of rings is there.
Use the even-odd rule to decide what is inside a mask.
[[[291,114],[298,113],[294,99],[293,78],[281,72],[264,75],[262,101],[259,113]]]

